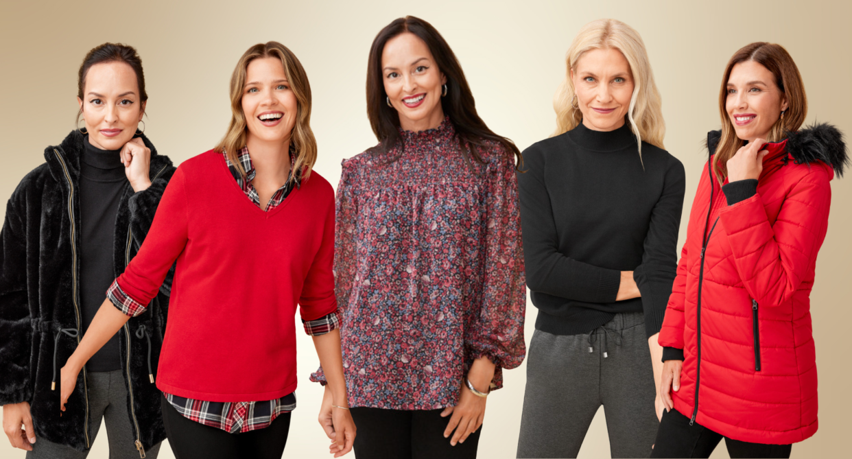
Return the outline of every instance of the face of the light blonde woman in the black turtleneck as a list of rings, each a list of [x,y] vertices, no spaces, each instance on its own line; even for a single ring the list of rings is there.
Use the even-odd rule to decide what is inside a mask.
[[[625,125],[634,83],[630,64],[621,51],[586,51],[571,70],[571,79],[585,127],[610,131]]]

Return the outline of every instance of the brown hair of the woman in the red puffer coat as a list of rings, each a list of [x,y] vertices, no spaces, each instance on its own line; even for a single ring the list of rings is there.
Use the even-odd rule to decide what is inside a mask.
[[[734,158],[740,147],[746,142],[737,137],[734,124],[728,117],[728,78],[734,66],[740,62],[754,60],[761,66],[766,67],[775,77],[775,85],[781,94],[786,97],[787,109],[784,118],[780,118],[769,130],[769,139],[766,141],[777,142],[786,139],[788,132],[795,132],[804,123],[808,115],[808,96],[804,92],[802,74],[799,73],[796,62],[780,44],[756,42],[747,44],[731,56],[725,73],[722,76],[722,89],[719,90],[719,116],[722,118],[722,137],[716,146],[716,155],[713,157],[713,175],[719,183],[728,176],[728,159]]]

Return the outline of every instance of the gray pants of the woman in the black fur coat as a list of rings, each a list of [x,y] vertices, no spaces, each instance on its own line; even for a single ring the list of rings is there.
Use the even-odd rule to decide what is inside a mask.
[[[110,459],[139,459],[130,415],[127,413],[127,386],[122,370],[89,373],[89,426],[92,444],[101,428],[101,418],[107,421]],[[146,459],[157,459],[161,444],[145,450]],[[26,459],[83,459],[89,451],[80,452],[71,446],[46,439],[36,439]]]

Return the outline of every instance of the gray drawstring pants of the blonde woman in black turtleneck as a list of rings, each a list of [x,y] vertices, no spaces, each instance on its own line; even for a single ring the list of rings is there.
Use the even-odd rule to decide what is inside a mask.
[[[601,405],[612,456],[650,456],[659,422],[644,323],[622,313],[583,335],[535,330],[518,457],[577,457]]]

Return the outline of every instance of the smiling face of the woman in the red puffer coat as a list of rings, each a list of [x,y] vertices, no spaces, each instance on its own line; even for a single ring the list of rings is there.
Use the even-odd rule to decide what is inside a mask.
[[[725,110],[737,137],[744,141],[767,139],[787,100],[769,69],[754,60],[734,65],[728,77]]]

